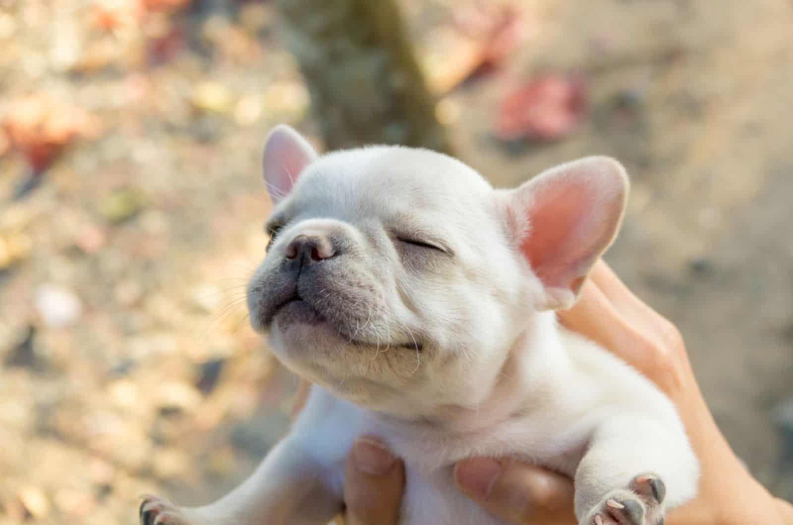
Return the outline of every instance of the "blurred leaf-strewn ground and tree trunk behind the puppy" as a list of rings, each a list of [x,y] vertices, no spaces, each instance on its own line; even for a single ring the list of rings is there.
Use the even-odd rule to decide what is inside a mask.
[[[205,503],[285,431],[243,304],[279,122],[497,186],[622,160],[607,260],[793,498],[791,27],[788,0],[0,0],[0,523]]]

